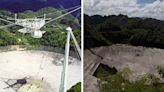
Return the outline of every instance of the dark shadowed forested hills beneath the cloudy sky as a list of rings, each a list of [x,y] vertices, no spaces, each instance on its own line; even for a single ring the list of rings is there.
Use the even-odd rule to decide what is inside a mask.
[[[125,15],[84,16],[85,48],[116,43],[164,48],[164,21]]]

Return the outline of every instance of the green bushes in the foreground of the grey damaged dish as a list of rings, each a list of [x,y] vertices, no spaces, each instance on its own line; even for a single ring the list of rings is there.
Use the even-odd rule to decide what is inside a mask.
[[[164,92],[164,84],[153,75],[130,82],[122,73],[102,77],[99,81],[100,92]]]

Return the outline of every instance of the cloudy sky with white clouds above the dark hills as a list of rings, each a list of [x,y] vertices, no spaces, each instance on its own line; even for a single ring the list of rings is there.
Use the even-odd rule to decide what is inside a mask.
[[[88,15],[149,17],[164,20],[164,0],[84,0]]]

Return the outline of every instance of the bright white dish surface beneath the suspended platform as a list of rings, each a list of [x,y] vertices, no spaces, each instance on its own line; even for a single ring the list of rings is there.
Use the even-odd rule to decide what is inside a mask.
[[[0,52],[0,57],[0,92],[59,92],[64,54],[15,50]],[[81,62],[69,59],[67,89],[81,81]],[[26,84],[8,87],[23,78],[27,79]]]

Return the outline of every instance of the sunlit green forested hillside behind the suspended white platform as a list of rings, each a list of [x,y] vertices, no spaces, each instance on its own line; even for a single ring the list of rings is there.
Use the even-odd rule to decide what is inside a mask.
[[[53,12],[53,13],[52,13]],[[46,7],[36,12],[25,11],[18,13],[18,18],[34,18],[43,14],[49,13],[48,18],[55,18],[60,16],[66,11],[52,7]],[[9,11],[0,10],[0,18],[7,19],[7,16],[14,18],[14,13]],[[43,16],[42,16],[43,17]],[[0,26],[6,25],[4,21],[0,21]],[[80,43],[80,23],[77,18],[72,15],[67,15],[59,20],[46,24],[41,30],[46,31],[42,38],[32,38],[31,34],[19,33],[20,26],[12,26],[0,29],[0,46],[7,45],[44,45],[63,48],[66,42],[65,28],[71,26],[73,32]],[[73,46],[73,43],[71,44]]]

